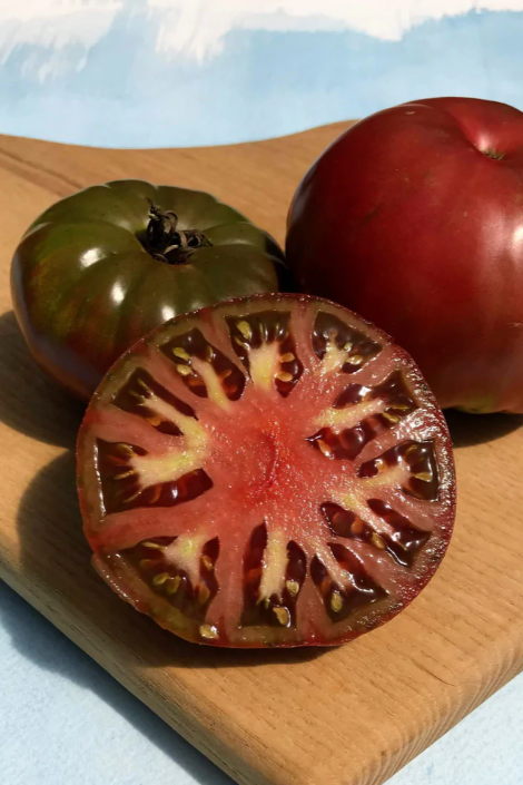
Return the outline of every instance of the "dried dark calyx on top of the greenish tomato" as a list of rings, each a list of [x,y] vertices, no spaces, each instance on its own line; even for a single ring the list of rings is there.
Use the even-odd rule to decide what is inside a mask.
[[[155,259],[171,265],[187,264],[194,251],[211,245],[199,229],[178,228],[178,216],[174,210],[162,210],[152,203],[145,242],[141,242]]]

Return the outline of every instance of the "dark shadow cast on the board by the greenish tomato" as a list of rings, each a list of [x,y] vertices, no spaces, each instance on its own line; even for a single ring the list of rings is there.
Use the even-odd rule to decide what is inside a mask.
[[[12,311],[0,316],[0,420],[33,439],[73,448],[85,406],[48,380]]]

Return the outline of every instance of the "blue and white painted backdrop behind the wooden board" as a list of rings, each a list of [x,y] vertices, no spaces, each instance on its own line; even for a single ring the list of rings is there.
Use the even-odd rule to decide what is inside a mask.
[[[523,109],[523,0],[0,0],[0,133],[259,139],[398,101]]]

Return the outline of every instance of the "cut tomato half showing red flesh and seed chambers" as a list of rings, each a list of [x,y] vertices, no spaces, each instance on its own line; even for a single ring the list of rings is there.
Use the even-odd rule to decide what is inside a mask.
[[[79,436],[85,531],[138,610],[214,646],[334,645],[404,608],[455,513],[445,420],[411,357],[328,301],[167,322]]]

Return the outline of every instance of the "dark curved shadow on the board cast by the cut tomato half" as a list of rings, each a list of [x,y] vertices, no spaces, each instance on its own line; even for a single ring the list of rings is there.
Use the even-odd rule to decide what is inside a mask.
[[[90,565],[83,538],[75,481],[75,458],[66,452],[32,480],[18,511],[23,569],[49,587],[76,615],[76,627],[97,626],[110,636],[119,665],[137,661],[149,667],[253,667],[268,663],[300,663],[326,649],[218,649],[189,644],[160,629],[151,619],[120,600]],[[40,655],[26,648],[29,658]],[[49,663],[52,667],[52,663]]]

